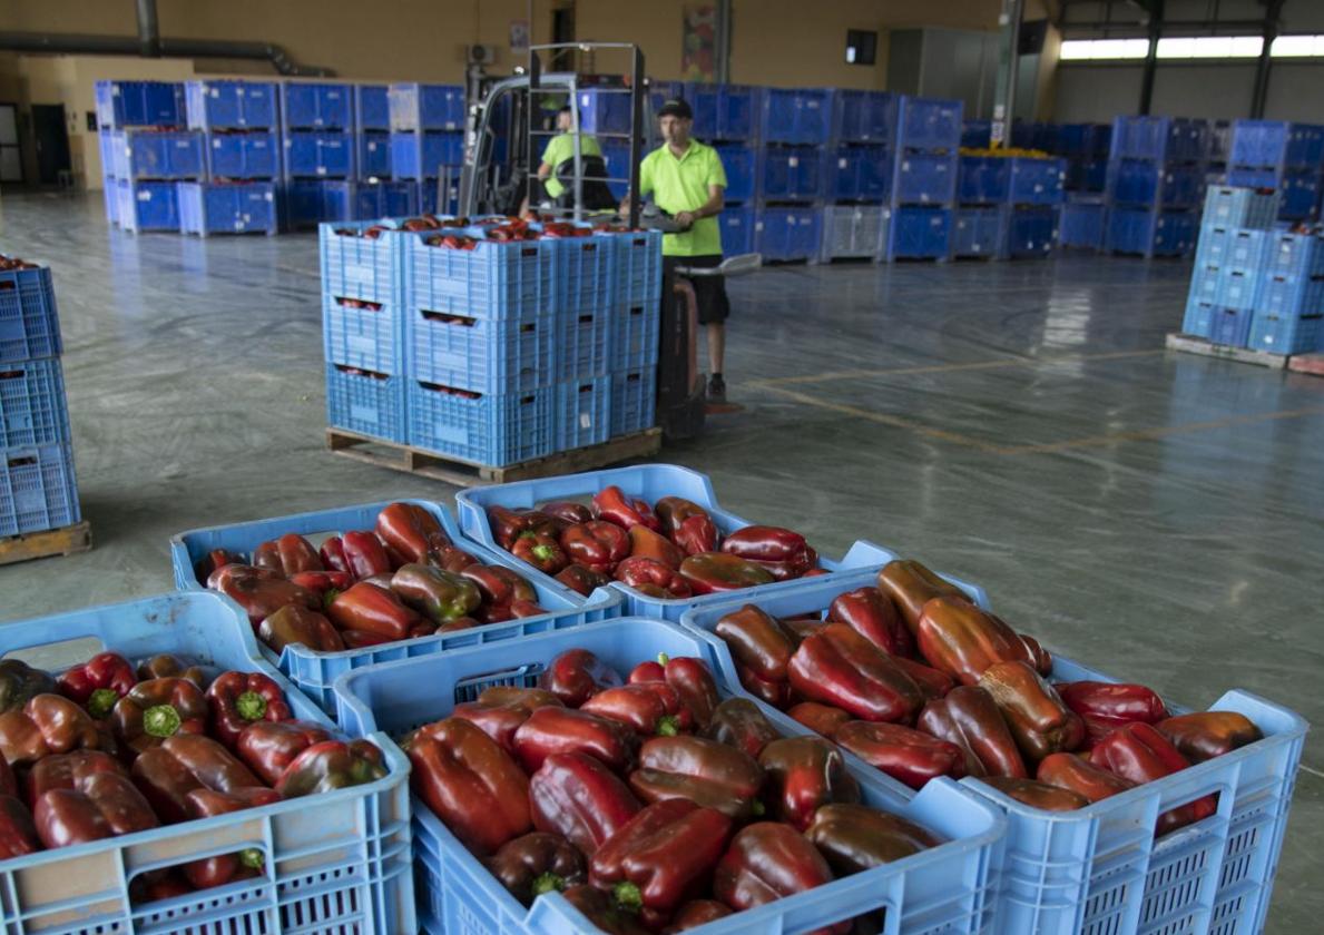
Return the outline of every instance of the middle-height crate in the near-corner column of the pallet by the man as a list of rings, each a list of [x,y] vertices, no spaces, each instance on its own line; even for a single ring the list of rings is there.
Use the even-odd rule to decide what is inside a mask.
[[[543,315],[465,318],[410,310],[404,322],[408,372],[416,380],[478,393],[518,393],[555,376],[560,320]]]

